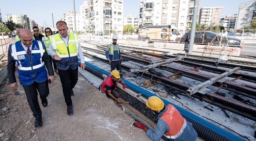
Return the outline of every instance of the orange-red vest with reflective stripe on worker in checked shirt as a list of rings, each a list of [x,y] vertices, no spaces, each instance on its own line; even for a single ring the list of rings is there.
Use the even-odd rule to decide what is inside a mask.
[[[160,117],[169,127],[169,131],[165,135],[168,138],[176,139],[182,134],[187,124],[180,112],[173,105],[167,105],[166,108],[167,111]]]

